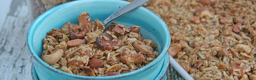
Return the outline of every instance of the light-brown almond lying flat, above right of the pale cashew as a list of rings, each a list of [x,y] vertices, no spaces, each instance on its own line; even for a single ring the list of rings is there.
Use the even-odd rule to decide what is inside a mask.
[[[74,46],[78,46],[80,44],[84,44],[84,42],[85,41],[82,39],[74,39],[74,40],[69,40],[67,42],[67,45],[68,45],[68,47],[74,47]]]

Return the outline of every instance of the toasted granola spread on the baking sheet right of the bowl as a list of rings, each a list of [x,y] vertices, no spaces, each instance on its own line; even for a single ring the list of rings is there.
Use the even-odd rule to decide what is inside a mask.
[[[166,22],[168,52],[194,79],[256,79],[256,0],[151,0],[143,6]]]

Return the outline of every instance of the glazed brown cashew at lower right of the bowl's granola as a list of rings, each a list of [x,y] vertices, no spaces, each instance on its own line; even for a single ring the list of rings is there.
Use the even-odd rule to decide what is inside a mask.
[[[129,54],[128,52],[123,52],[120,56],[121,62],[125,64],[141,64],[144,60],[145,57],[143,54]]]

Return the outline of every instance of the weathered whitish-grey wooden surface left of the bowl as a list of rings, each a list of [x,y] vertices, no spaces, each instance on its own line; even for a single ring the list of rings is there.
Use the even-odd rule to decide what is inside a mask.
[[[0,80],[32,80],[32,57],[26,45],[31,24],[26,0],[12,0],[10,12],[0,25]]]

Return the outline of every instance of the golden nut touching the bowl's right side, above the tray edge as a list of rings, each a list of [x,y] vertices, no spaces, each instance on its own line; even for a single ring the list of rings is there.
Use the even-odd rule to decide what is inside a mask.
[[[178,54],[178,52],[180,52],[180,50],[181,50],[181,45],[178,44],[176,46],[169,47],[168,52],[172,57],[174,57]]]

